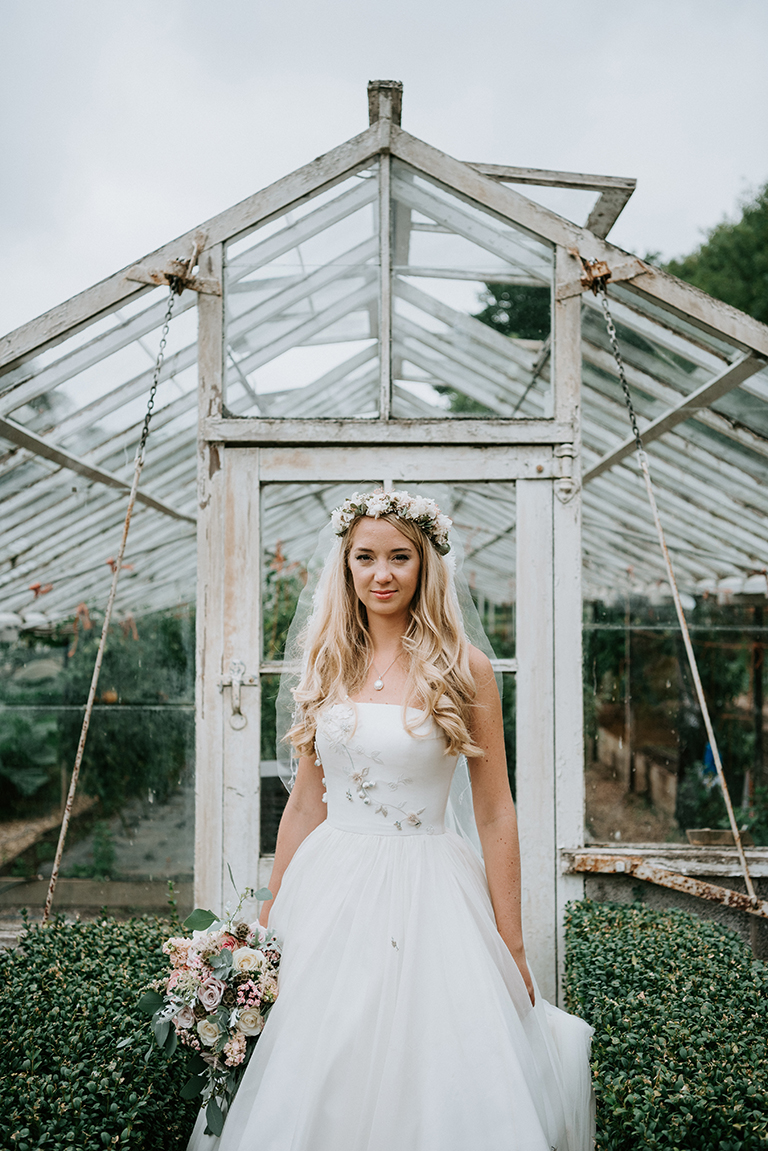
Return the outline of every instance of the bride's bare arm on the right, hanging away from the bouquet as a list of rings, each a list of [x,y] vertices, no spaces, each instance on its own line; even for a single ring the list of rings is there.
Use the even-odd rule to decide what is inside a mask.
[[[482,845],[496,927],[533,1003],[533,981],[523,946],[520,847],[507,775],[501,700],[488,657],[472,648],[470,666],[478,688],[470,733],[472,741],[484,752],[481,756],[469,760],[474,820]]]

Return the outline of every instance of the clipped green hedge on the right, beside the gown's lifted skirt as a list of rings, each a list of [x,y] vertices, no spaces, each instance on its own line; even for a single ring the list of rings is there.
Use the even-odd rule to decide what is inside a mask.
[[[685,912],[571,904],[565,991],[595,1029],[598,1151],[768,1148],[768,968]]]

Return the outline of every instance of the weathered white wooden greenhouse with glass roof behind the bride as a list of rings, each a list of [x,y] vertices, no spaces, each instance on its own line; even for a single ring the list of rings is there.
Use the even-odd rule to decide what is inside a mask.
[[[372,83],[360,135],[0,340],[2,907],[45,898],[173,296],[56,905],[265,882],[318,532],[405,487],[453,518],[503,678],[554,999],[565,904],[626,861],[743,890],[588,269],[763,897],[768,328],[611,245],[632,180],[453,159],[401,99]]]

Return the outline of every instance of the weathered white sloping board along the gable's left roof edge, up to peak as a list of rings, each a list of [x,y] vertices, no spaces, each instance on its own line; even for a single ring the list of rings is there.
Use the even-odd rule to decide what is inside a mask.
[[[190,229],[142,259],[131,261],[127,268],[121,268],[107,280],[16,328],[0,338],[0,373],[60,343],[127,300],[149,291],[149,287],[137,288],[126,280],[126,272],[134,265],[162,266],[167,259],[183,259],[200,229],[206,233],[208,246],[212,246],[221,241],[233,239],[289,207],[304,203],[315,192],[340,183],[377,155],[382,144],[388,142],[388,121],[379,121],[332,152],[318,157],[204,224]]]

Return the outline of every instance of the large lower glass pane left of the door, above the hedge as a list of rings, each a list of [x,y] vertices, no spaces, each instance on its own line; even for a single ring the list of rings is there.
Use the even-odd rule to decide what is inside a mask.
[[[20,879],[51,872],[100,612],[83,602],[37,623],[0,637],[2,871]],[[105,878],[143,881],[136,905],[122,892],[124,907],[149,895],[161,909],[168,879],[191,898],[193,762],[193,607],[123,615],[107,640],[54,907],[98,909],[104,892],[88,881]],[[22,885],[13,899],[35,906],[41,894]]]

